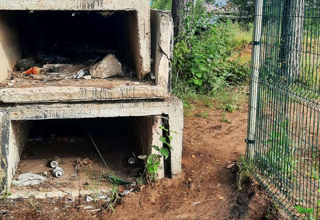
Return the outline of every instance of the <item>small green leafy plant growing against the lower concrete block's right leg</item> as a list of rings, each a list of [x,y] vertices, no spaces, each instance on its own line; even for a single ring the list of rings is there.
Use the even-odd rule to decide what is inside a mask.
[[[169,157],[168,148],[170,150],[173,150],[169,143],[172,140],[172,136],[168,134],[169,130],[163,126],[160,126],[159,128],[162,131],[164,131],[164,133],[166,134],[165,136],[162,135],[159,138],[159,140],[163,143],[163,146],[159,147],[159,146],[153,145],[152,148],[155,149],[157,153],[152,153],[149,156],[147,155],[138,156],[139,159],[143,159],[145,161],[145,171],[144,171],[145,176],[138,178],[137,180],[138,183],[156,181],[158,169],[161,168],[160,159],[164,157],[165,160],[167,160]],[[174,131],[170,131],[170,132],[175,133]],[[168,148],[164,146],[167,146]]]

